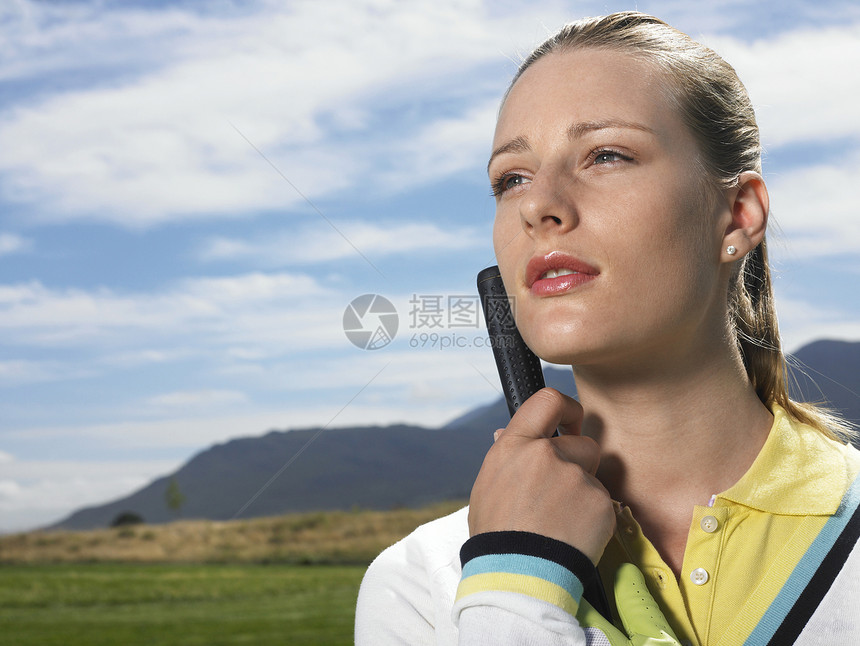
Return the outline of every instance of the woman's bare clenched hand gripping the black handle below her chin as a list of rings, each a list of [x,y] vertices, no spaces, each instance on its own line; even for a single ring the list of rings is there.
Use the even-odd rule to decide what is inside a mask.
[[[609,493],[594,474],[600,447],[580,435],[582,407],[552,388],[532,395],[497,431],[472,488],[469,532],[533,532],[600,560],[615,531]],[[556,428],[561,435],[553,437]]]

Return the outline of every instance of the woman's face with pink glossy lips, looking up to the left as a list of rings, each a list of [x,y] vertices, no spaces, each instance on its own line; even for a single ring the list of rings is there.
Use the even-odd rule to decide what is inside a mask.
[[[538,60],[503,106],[493,241],[548,361],[648,365],[725,337],[731,213],[664,87],[629,55],[586,49]]]

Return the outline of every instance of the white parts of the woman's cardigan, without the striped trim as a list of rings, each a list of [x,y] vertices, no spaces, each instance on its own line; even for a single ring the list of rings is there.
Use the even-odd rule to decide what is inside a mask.
[[[467,514],[464,508],[423,525],[377,557],[359,592],[356,645],[589,643],[575,617],[521,594],[496,592],[481,605],[455,607],[459,551],[468,539]],[[860,645],[860,550],[856,546],[795,643]]]

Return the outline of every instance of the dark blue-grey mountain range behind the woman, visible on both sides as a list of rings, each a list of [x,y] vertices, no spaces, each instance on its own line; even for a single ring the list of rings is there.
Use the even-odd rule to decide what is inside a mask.
[[[860,343],[817,341],[790,362],[796,398],[825,400],[860,426]],[[575,395],[570,370],[547,368],[545,376],[547,385]],[[235,439],[206,449],[130,496],[76,511],[54,528],[104,527],[124,511],[162,523],[465,500],[493,431],[508,419],[499,398],[440,429],[311,428]],[[177,513],[166,503],[171,482],[184,499]]]

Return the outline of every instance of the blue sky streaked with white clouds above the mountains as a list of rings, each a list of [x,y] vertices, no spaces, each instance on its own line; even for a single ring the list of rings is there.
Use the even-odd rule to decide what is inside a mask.
[[[452,308],[493,264],[499,97],[549,32],[630,8],[753,97],[787,348],[860,340],[856,3],[2,3],[0,531],[232,437],[496,397]],[[342,329],[366,293],[400,315],[379,350]]]

